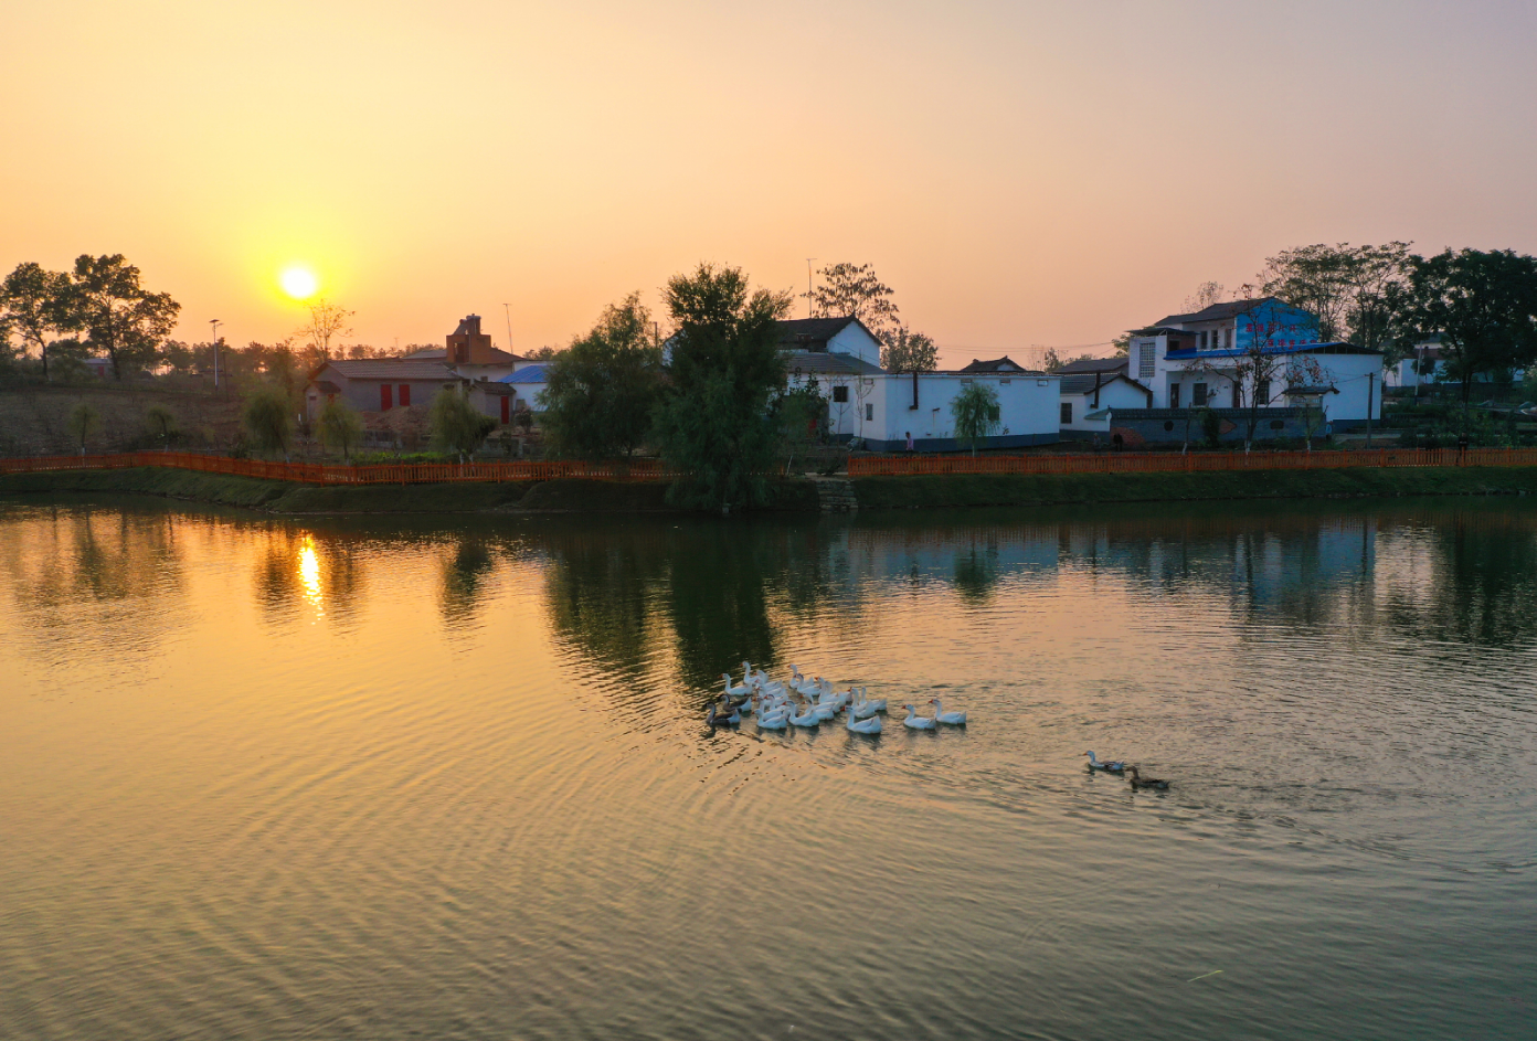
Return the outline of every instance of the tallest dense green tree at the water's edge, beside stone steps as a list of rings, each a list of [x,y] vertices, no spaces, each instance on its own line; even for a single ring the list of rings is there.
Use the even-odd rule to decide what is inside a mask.
[[[765,495],[773,463],[770,397],[784,386],[775,323],[790,297],[752,289],[738,268],[699,264],[667,281],[672,389],[656,409],[662,457],[689,477],[675,501],[730,509]]]

